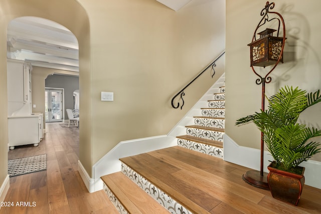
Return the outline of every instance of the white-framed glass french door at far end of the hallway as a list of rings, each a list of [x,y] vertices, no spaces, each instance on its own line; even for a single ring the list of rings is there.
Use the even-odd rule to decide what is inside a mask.
[[[46,122],[61,122],[63,117],[63,90],[45,90],[45,116]]]

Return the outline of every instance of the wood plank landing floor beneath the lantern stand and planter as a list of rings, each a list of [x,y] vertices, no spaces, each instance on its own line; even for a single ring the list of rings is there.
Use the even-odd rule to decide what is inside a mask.
[[[321,213],[321,189],[305,185],[287,204],[244,182],[248,168],[179,146],[121,161],[194,213]]]

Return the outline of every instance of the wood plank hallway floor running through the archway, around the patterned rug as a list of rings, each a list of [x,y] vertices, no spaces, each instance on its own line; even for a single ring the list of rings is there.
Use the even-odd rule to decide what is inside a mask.
[[[118,213],[103,190],[89,193],[79,175],[79,129],[60,123],[47,123],[46,128],[39,146],[9,151],[9,159],[47,153],[47,170],[11,177],[5,201],[14,206],[1,207],[0,213]]]

